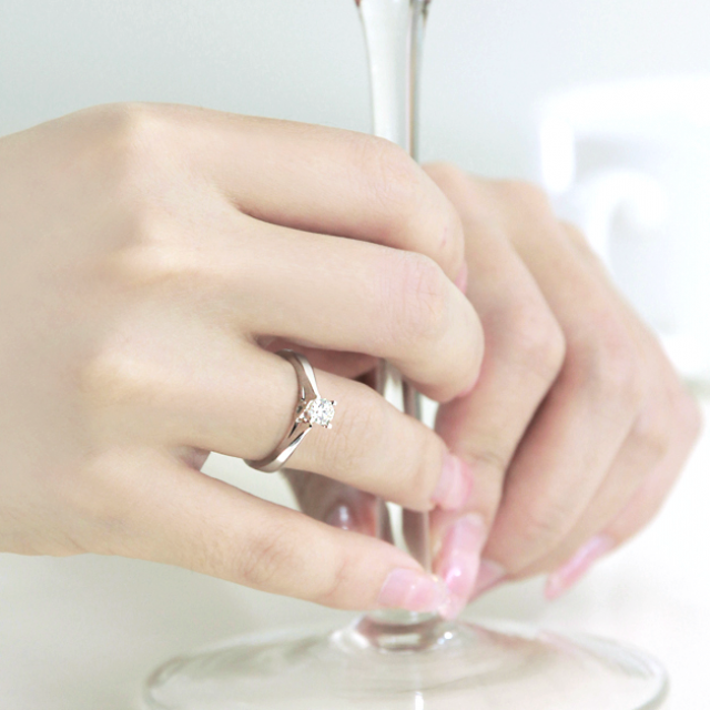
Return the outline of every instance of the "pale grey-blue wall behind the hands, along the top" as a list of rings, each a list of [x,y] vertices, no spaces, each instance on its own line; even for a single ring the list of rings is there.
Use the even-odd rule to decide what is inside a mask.
[[[618,77],[710,71],[704,0],[434,0],[423,156],[535,173],[530,109]],[[0,0],[0,134],[82,106],[196,103],[368,130],[353,0]]]

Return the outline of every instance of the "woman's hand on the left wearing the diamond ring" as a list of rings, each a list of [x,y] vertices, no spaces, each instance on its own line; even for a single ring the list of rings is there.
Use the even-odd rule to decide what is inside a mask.
[[[403,151],[100,106],[0,140],[0,229],[1,551],[136,557],[342,608],[443,601],[393,546],[199,470],[281,440],[296,379],[270,351],[291,345],[338,406],[290,466],[417,510],[464,503],[443,440],[349,379],[385,357],[446,402],[481,361],[459,219]]]

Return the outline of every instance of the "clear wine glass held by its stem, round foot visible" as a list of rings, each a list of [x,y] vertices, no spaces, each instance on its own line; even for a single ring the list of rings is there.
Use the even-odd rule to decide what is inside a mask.
[[[374,130],[416,156],[418,64],[428,0],[356,0]],[[376,388],[423,418],[422,396],[388,363]],[[383,539],[430,570],[426,514],[381,505]],[[432,613],[375,611],[349,626],[256,633],[175,658],[148,680],[152,710],[651,710],[663,669],[590,637]]]

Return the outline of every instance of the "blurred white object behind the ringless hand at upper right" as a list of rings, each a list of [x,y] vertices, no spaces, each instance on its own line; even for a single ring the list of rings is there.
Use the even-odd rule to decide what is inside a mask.
[[[710,383],[710,75],[538,105],[539,178],[689,381]]]

